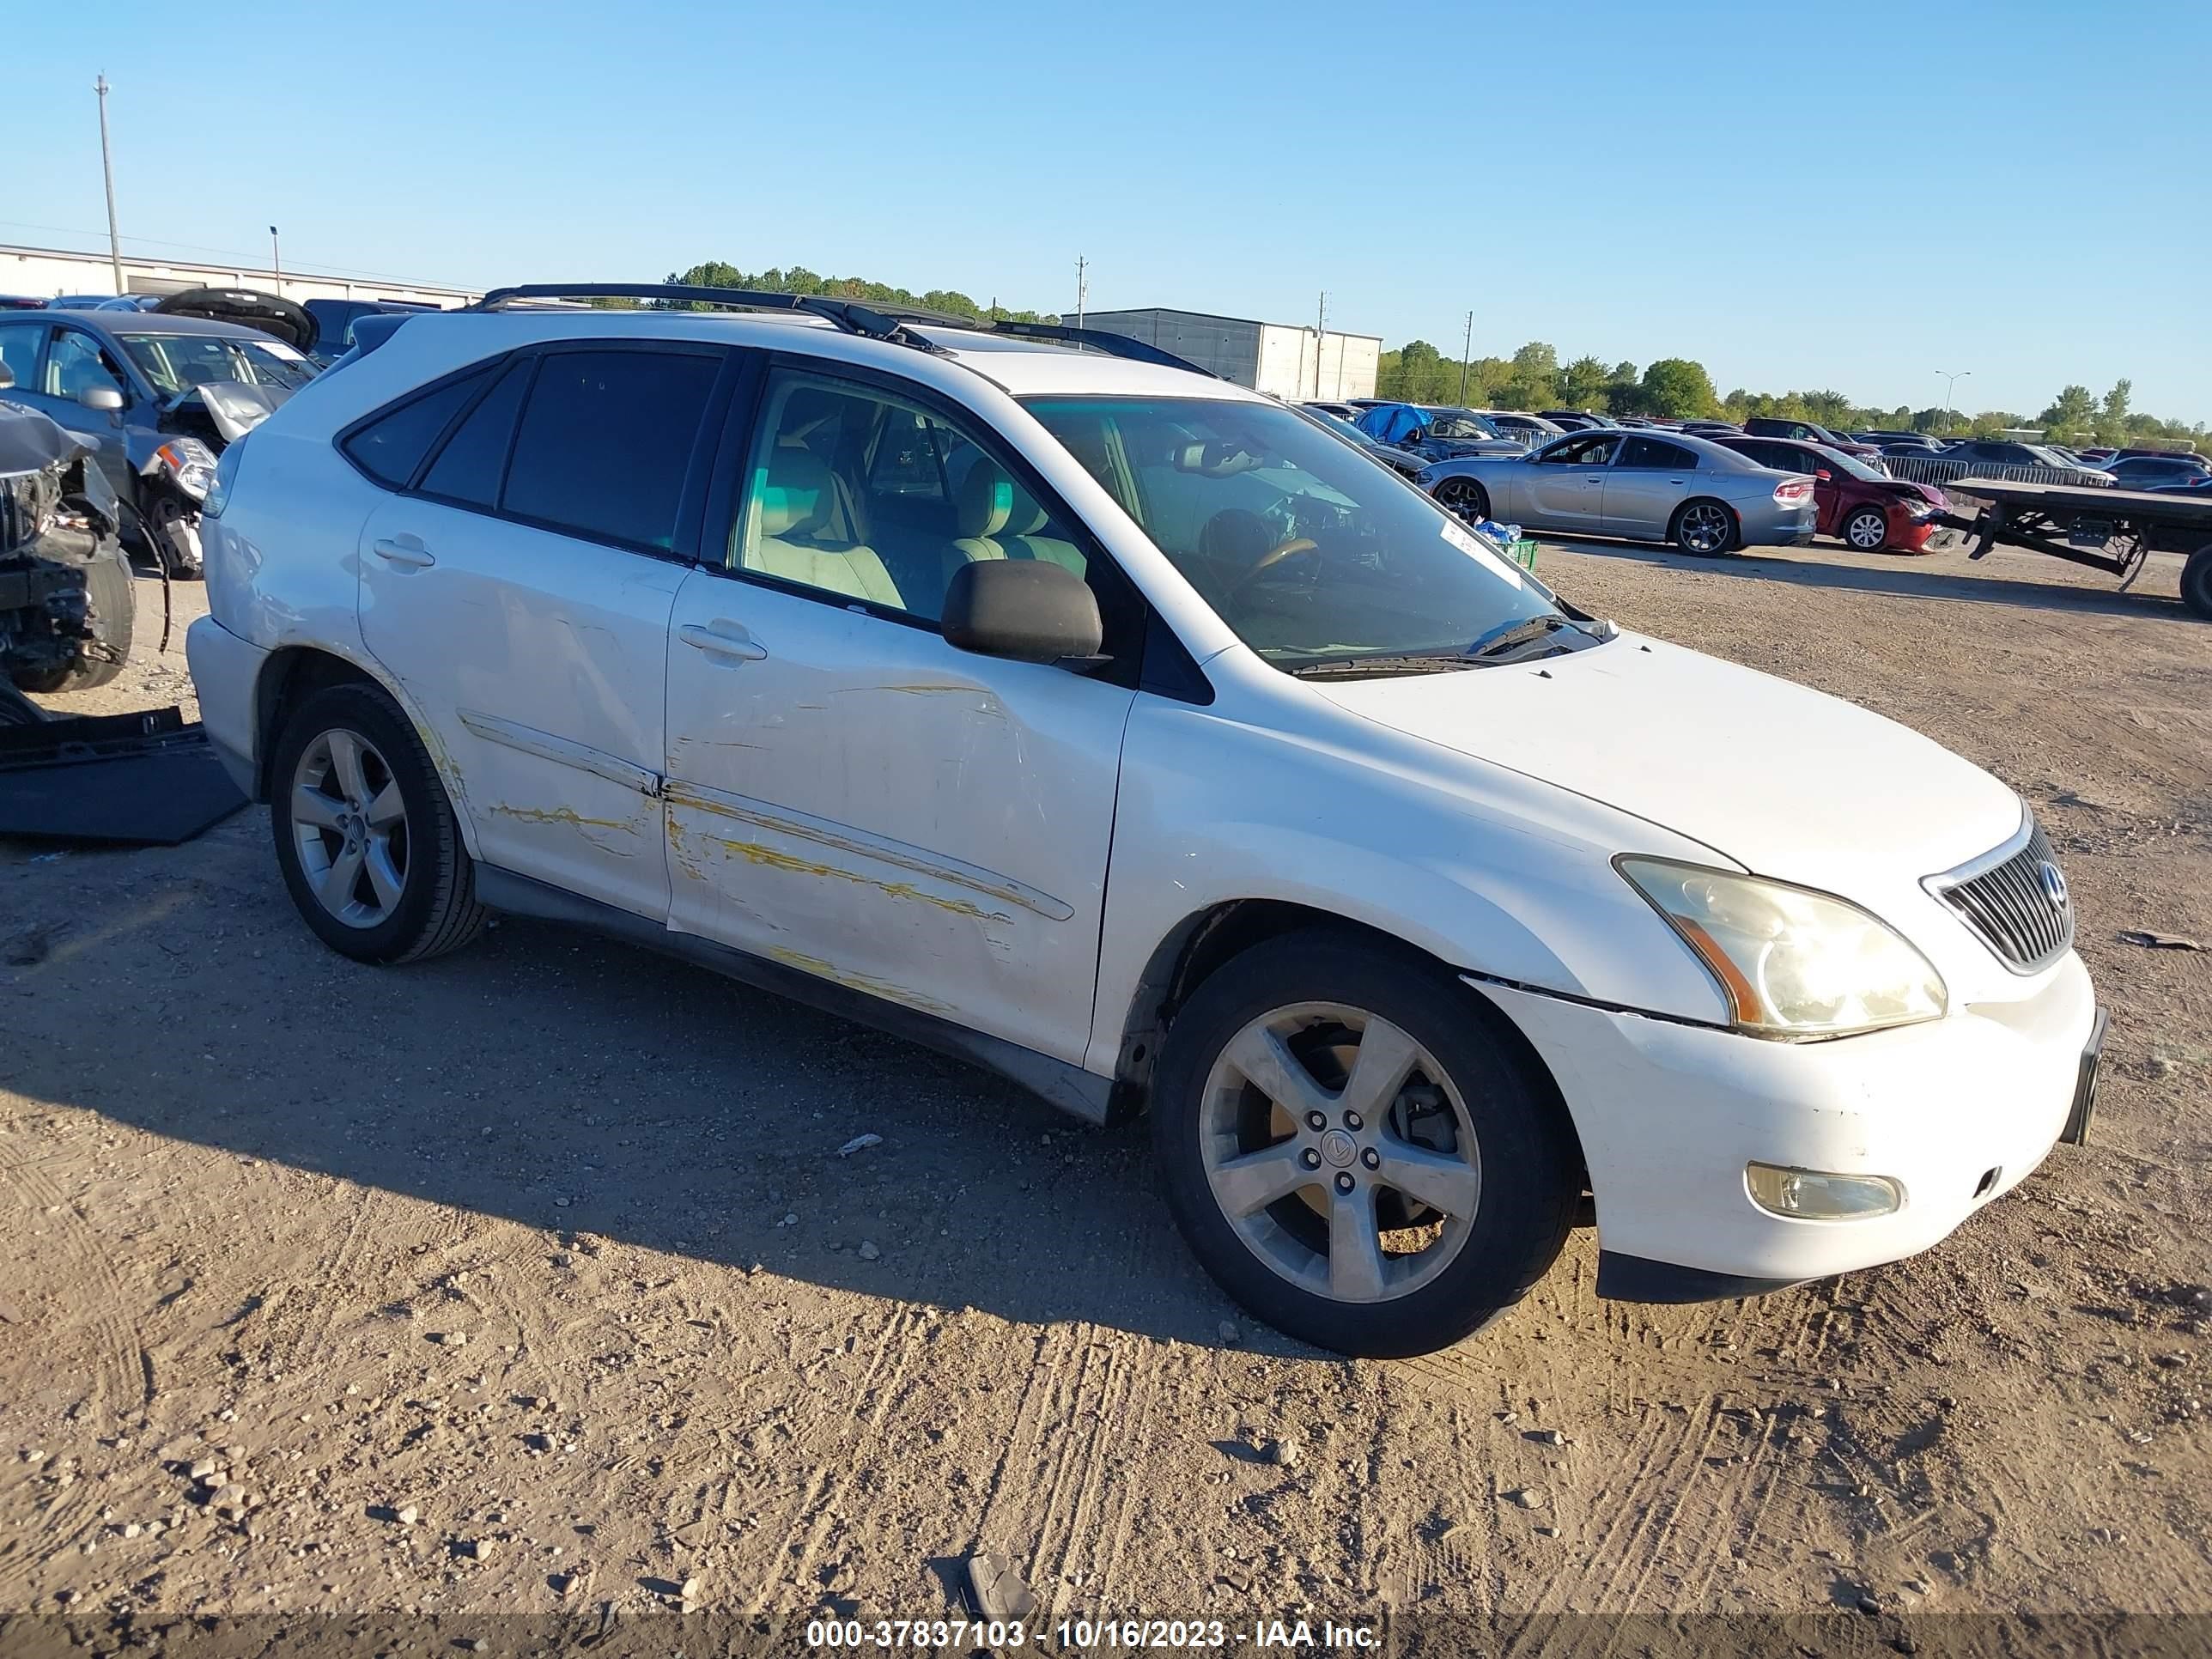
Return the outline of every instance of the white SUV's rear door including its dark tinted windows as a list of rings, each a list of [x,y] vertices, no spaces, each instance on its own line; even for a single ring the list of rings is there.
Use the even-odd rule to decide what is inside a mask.
[[[341,440],[372,476],[405,469],[361,533],[361,633],[429,721],[482,858],[655,920],[668,613],[726,365],[573,341]]]

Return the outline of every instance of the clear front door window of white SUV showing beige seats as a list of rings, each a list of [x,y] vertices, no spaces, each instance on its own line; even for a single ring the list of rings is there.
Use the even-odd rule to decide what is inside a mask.
[[[1082,540],[945,416],[874,387],[770,378],[730,531],[734,568],[936,622],[975,560],[1088,575]]]

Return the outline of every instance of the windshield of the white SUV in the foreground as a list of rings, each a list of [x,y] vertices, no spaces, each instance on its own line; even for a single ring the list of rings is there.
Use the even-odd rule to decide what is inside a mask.
[[[1221,398],[1024,407],[1279,668],[1462,657],[1515,622],[1559,617],[1489,542],[1290,409]]]

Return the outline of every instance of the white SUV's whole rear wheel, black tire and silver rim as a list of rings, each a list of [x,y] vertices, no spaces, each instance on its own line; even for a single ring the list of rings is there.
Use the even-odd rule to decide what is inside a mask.
[[[285,721],[270,832],[301,918],[356,962],[440,956],[484,927],[476,860],[429,750],[372,686],[319,690]]]

